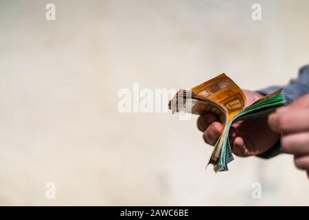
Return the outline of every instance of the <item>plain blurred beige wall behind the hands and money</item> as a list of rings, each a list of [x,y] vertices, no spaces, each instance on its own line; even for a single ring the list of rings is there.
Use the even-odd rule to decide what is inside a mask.
[[[190,88],[221,72],[246,89],[287,83],[309,63],[308,12],[301,0],[0,0],[0,204],[308,206],[290,155],[236,157],[215,174],[196,116],[117,111],[133,83]]]

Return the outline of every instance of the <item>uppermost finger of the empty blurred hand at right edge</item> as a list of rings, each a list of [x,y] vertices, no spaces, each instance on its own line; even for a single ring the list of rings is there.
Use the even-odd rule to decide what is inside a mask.
[[[309,130],[308,109],[288,107],[269,115],[268,124],[275,132],[293,133]]]

